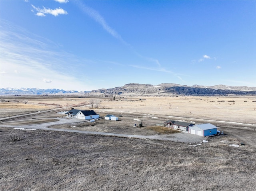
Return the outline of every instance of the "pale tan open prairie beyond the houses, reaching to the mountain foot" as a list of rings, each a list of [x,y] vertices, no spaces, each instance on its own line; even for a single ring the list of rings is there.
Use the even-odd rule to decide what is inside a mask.
[[[30,111],[70,107],[100,112],[134,113],[150,116],[171,116],[207,120],[256,123],[255,96],[181,96],[140,98],[87,98],[82,96],[2,96],[0,116],[6,117]],[[24,101],[27,101],[25,104]],[[170,116],[170,117],[169,117]]]

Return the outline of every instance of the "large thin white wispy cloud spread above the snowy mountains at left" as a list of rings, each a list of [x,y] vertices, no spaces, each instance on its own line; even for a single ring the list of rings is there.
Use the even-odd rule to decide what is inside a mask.
[[[88,81],[86,74],[78,80],[76,77],[80,76],[80,71],[74,71],[70,65],[81,67],[87,61],[5,20],[1,20],[0,35],[1,71],[4,71],[1,73],[1,87],[92,89],[81,82]]]

